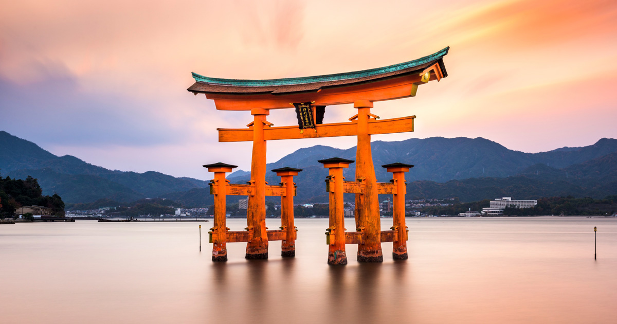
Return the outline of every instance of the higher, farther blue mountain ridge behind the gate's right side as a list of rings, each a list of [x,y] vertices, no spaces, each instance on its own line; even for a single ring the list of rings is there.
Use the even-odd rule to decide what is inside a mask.
[[[408,173],[407,181],[445,182],[479,177],[508,177],[534,164],[546,164],[555,168],[568,167],[617,152],[617,139],[603,138],[590,146],[571,149],[563,147],[535,154],[513,151],[484,138],[464,137],[375,141],[371,143],[371,148],[379,181],[389,180],[389,175],[381,165],[403,162],[415,165],[413,171]],[[335,149],[328,146],[307,147],[268,164],[268,170],[311,165],[321,167],[317,160],[329,157],[355,160],[355,151],[355,146],[350,149]],[[351,164],[346,171],[348,174],[354,174],[354,164]]]

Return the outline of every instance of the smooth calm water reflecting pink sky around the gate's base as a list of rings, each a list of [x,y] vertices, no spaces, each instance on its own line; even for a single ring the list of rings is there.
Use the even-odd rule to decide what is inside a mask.
[[[233,243],[224,264],[212,222],[202,252],[195,222],[0,225],[0,323],[617,323],[615,218],[407,222],[409,260],[384,243],[382,264],[358,264],[348,245],[334,267],[327,219],[296,220],[295,259]]]

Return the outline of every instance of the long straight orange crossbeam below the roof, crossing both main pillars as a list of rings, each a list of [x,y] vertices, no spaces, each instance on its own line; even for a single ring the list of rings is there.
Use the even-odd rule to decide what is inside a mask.
[[[405,133],[413,131],[415,116],[368,121],[369,135]],[[219,142],[247,142],[253,140],[253,128],[217,128]],[[266,141],[275,139],[324,138],[338,136],[357,136],[358,123],[328,123],[315,126],[300,133],[297,126],[265,127],[263,138]]]

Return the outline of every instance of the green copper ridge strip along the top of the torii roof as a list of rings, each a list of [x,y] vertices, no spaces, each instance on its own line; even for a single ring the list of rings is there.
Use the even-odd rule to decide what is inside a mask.
[[[282,79],[270,79],[270,80],[239,80],[239,79],[223,79],[223,78],[210,78],[204,77],[193,72],[193,78],[197,82],[210,83],[213,85],[226,85],[226,86],[283,86],[283,85],[302,85],[305,83],[325,82],[325,81],[338,81],[354,78],[371,77],[373,75],[380,75],[389,72],[395,72],[399,70],[408,69],[417,65],[433,62],[434,60],[441,59],[448,54],[450,48],[444,48],[439,52],[431,54],[429,56],[421,57],[420,59],[410,60],[400,64],[388,65],[387,67],[379,67],[377,69],[362,70],[356,72],[336,73],[327,75],[317,75],[315,77],[302,77],[302,78],[282,78]]]

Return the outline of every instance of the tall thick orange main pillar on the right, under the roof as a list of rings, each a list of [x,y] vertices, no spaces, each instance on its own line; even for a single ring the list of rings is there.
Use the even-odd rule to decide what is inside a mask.
[[[377,178],[371,154],[371,135],[368,132],[373,102],[357,100],[354,101],[354,107],[358,109],[355,178],[365,183],[365,193],[355,195],[355,225],[365,235],[364,244],[358,245],[358,262],[383,262]]]

